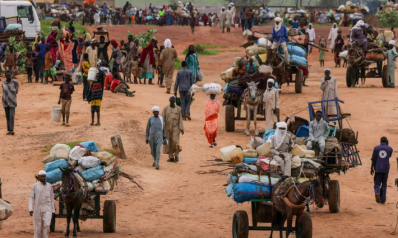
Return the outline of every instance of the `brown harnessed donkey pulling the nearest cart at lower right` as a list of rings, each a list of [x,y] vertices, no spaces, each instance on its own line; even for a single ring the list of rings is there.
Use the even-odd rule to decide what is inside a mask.
[[[294,184],[286,194],[286,197],[279,199],[277,197],[279,195],[275,194],[275,191],[281,184],[282,182],[277,183],[272,189],[271,199],[274,206],[270,238],[272,238],[273,228],[276,225],[275,223],[279,223],[281,228],[285,223],[285,219],[278,219],[281,217],[281,214],[282,217],[287,219],[286,238],[288,238],[292,231],[293,216],[296,216],[296,220],[298,220],[303,215],[307,199],[314,200],[318,207],[323,207],[323,189],[319,180],[314,179],[304,183]],[[282,237],[282,229],[280,232]]]

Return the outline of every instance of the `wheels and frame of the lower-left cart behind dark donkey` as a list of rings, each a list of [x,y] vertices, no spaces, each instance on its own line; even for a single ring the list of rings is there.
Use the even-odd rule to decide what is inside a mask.
[[[94,210],[87,210],[82,207],[79,215],[79,219],[102,219],[103,220],[103,231],[105,233],[113,233],[116,231],[116,202],[114,200],[106,200],[101,215],[101,195],[106,195],[106,192],[89,192],[90,198],[94,198]],[[59,212],[51,219],[50,231],[55,231],[55,218],[67,218],[65,212],[65,205],[63,198],[59,193],[54,194],[55,199],[59,199]]]

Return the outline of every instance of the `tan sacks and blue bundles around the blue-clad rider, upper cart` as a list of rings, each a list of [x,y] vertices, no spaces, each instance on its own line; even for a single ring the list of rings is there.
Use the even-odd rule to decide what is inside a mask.
[[[298,32],[296,32],[298,34]],[[232,72],[234,68],[238,67],[239,61],[243,63],[244,66],[247,66],[250,59],[253,60],[253,64],[256,67],[259,67],[260,73],[261,72],[261,65],[265,64],[267,60],[267,51],[271,48],[272,42],[267,39],[267,35],[260,34],[260,33],[252,33],[249,30],[245,30],[243,32],[243,36],[246,39],[243,43],[242,47],[246,49],[246,55],[243,57],[235,57],[234,61],[232,62],[232,67],[227,69],[226,71],[222,72],[220,77],[226,83],[229,83],[233,80]],[[296,34],[291,35],[291,39],[295,39],[295,37],[300,37]],[[304,37],[302,37],[304,38]],[[294,42],[287,43],[287,50],[289,52],[289,60],[290,63],[293,65],[306,67],[308,65],[307,61],[307,51],[304,46]],[[284,57],[284,52],[282,47],[279,48],[280,55]]]

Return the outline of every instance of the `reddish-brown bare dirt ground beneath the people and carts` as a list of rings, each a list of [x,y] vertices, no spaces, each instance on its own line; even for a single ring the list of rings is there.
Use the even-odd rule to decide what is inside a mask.
[[[91,30],[94,29],[91,28]],[[229,68],[233,57],[243,56],[243,42],[239,29],[230,34],[221,34],[217,28],[200,27],[195,35],[188,27],[161,27],[157,38],[163,42],[172,40],[179,58],[184,59],[182,51],[190,44],[202,43],[226,46],[226,49],[239,52],[227,52],[214,56],[200,57],[200,66],[204,72],[204,82],[222,83],[219,74]],[[330,28],[316,28],[317,35],[328,36]],[[126,32],[133,34],[146,31],[146,27],[112,26],[111,38],[126,39]],[[270,31],[270,28],[261,29]],[[346,31],[346,29],[344,30]],[[319,82],[323,68],[318,66],[318,52],[309,57],[310,77],[308,87],[302,94],[295,94],[294,87],[283,86],[281,93],[281,118],[295,114],[307,106],[310,101],[321,98]],[[349,125],[359,132],[359,150],[363,165],[350,169],[347,174],[332,175],[340,181],[341,212],[330,214],[328,208],[312,208],[313,237],[391,237],[394,230],[397,210],[397,191],[393,184],[397,177],[396,153],[391,159],[391,173],[386,205],[375,203],[373,179],[370,176],[370,156],[373,147],[379,144],[380,137],[387,136],[390,145],[398,143],[397,89],[384,89],[381,80],[368,80],[364,88],[345,86],[345,69],[335,69],[333,57],[326,56],[325,68],[331,68],[339,86],[339,98],[345,102],[343,110],[350,112]],[[14,206],[15,213],[6,221],[0,237],[25,238],[33,236],[33,222],[28,213],[28,196],[34,175],[44,168],[40,161],[46,153],[43,146],[56,143],[95,140],[101,149],[111,148],[110,137],[121,135],[128,159],[121,161],[122,170],[133,173],[144,187],[138,189],[126,179],[120,179],[116,189],[106,199],[117,203],[117,232],[102,233],[102,221],[81,222],[82,237],[231,237],[232,216],[236,210],[246,210],[250,214],[250,204],[237,205],[230,201],[225,192],[227,173],[199,174],[211,169],[222,170],[226,167],[200,167],[211,164],[218,149],[229,145],[246,146],[249,137],[244,135],[244,122],[237,123],[234,133],[225,132],[224,109],[220,112],[217,148],[210,149],[203,131],[204,107],[206,97],[197,93],[191,108],[192,121],[184,123],[185,135],[181,142],[183,152],[180,162],[167,163],[163,155],[160,170],[152,165],[149,146],[145,144],[145,127],[151,108],[161,108],[168,104],[169,95],[165,89],[149,85],[132,85],[136,90],[134,98],[105,92],[101,109],[101,127],[90,127],[90,106],[82,100],[82,86],[76,86],[73,95],[71,126],[65,128],[51,121],[51,107],[58,101],[57,87],[42,84],[27,84],[25,76],[19,76],[20,92],[16,110],[15,132],[13,137],[5,136],[6,124],[4,112],[0,111],[0,177],[3,182],[3,198]],[[155,80],[156,81],[156,80]],[[221,101],[221,96],[219,96]],[[298,116],[308,118],[304,111]],[[346,123],[346,122],[345,122]],[[345,124],[347,125],[347,124]],[[264,129],[264,124],[260,123]],[[105,199],[104,199],[105,200]],[[63,237],[65,221],[57,220],[56,232],[50,237]],[[267,232],[253,231],[250,237],[265,237]],[[293,236],[294,237],[294,236]]]

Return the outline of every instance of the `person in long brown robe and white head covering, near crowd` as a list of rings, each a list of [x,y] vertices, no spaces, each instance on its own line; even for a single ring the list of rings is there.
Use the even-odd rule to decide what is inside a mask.
[[[159,61],[162,62],[162,71],[164,78],[166,79],[166,88],[167,93],[170,93],[171,84],[173,83],[173,75],[174,75],[174,59],[176,59],[177,51],[172,47],[172,43],[170,39],[166,39],[164,41],[164,50],[160,53]],[[162,80],[163,82],[163,80]],[[159,85],[161,88],[164,88],[162,84]]]

